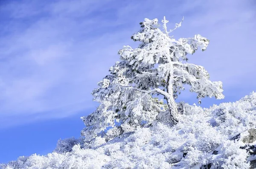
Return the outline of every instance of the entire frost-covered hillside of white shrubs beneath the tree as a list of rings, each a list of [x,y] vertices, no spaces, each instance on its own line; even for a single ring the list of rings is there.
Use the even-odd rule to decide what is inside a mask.
[[[0,168],[256,168],[256,93],[209,109],[180,107],[180,121],[173,127],[122,126],[122,135],[114,138],[116,131],[109,130],[90,143],[69,138],[59,141],[55,152],[46,156],[20,157]]]

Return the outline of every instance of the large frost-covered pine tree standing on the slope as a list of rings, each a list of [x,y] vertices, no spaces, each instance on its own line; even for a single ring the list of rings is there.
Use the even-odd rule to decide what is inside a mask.
[[[168,31],[168,21],[162,20],[162,29],[157,19],[145,19],[141,29],[131,39],[140,41],[138,48],[124,46],[118,52],[120,62],[110,68],[93,90],[94,101],[100,103],[92,114],[82,117],[86,127],[82,135],[87,140],[94,138],[106,127],[114,127],[116,122],[131,127],[150,125],[154,121],[177,124],[178,109],[175,99],[190,85],[190,91],[197,98],[215,96],[223,99],[222,83],[211,82],[203,66],[187,63],[187,54],[194,54],[200,48],[206,50],[209,40],[197,34],[192,38],[175,40],[169,34],[180,27]],[[167,104],[156,95],[162,95]],[[122,125],[121,125],[122,126]],[[123,132],[122,127],[116,133]]]

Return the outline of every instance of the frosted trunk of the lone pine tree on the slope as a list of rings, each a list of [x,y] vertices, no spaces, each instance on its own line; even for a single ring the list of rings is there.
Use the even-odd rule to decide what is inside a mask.
[[[172,73],[169,73],[168,79],[167,79],[167,93],[170,94],[170,96],[166,97],[167,105],[170,111],[170,117],[173,122],[173,124],[178,123],[177,115],[178,115],[178,109],[177,109],[177,104],[175,103],[175,99],[173,97],[173,85],[172,85]]]

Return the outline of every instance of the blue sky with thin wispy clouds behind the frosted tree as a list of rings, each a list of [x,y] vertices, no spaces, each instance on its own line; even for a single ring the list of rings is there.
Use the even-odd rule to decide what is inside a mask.
[[[182,26],[175,38],[201,34],[205,52],[189,56],[224,100],[256,90],[256,3],[253,0],[2,0],[0,1],[0,163],[47,154],[59,138],[79,137],[80,117],[95,110],[91,91],[108,74],[145,17]],[[184,92],[179,100],[197,102]]]

